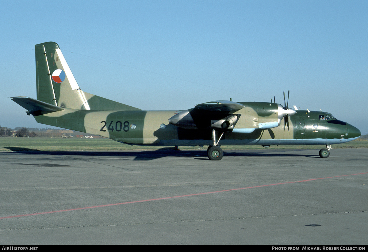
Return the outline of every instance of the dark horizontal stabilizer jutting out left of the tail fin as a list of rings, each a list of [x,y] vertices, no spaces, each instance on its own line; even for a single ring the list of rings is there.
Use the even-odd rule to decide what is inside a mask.
[[[63,108],[57,107],[47,102],[39,101],[26,96],[11,97],[11,100],[17,102],[23,108],[27,109],[32,115],[38,111],[49,113],[64,110]],[[45,114],[45,113],[36,113],[36,114]]]

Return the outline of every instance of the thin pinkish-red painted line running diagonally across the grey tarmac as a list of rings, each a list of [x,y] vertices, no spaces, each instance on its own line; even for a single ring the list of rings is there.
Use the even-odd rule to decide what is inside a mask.
[[[42,212],[42,213],[29,213],[29,214],[26,214],[26,215],[13,215],[13,216],[0,217],[0,219],[8,219],[8,218],[24,217],[24,216],[32,216],[32,215],[45,215],[47,213],[60,213],[60,212],[67,212],[67,211],[74,211],[74,210],[100,208],[100,207],[105,207],[105,206],[117,206],[117,205],[132,204],[132,203],[138,203],[138,202],[156,201],[156,200],[161,200],[161,199],[181,198],[181,197],[189,197],[189,196],[196,196],[196,195],[212,194],[212,193],[217,193],[217,192],[228,192],[228,191],[244,190],[244,189],[250,189],[250,188],[257,188],[257,187],[277,186],[277,185],[282,185],[282,184],[308,182],[308,181],[320,180],[320,179],[333,179],[333,178],[337,178],[337,177],[355,176],[355,175],[362,175],[362,174],[367,174],[367,173],[368,172],[357,173],[357,174],[349,174],[349,175],[340,175],[340,176],[333,176],[333,177],[325,177],[325,178],[319,178],[319,179],[306,179],[306,180],[300,180],[300,181],[291,181],[291,182],[283,182],[283,183],[276,183],[276,184],[267,184],[267,185],[261,185],[261,186],[251,186],[251,187],[227,189],[227,190],[213,191],[213,192],[201,192],[201,193],[195,193],[195,194],[171,196],[171,197],[157,198],[157,199],[144,199],[144,200],[138,200],[138,201],[129,201],[129,202],[122,202],[122,203],[108,204],[108,205],[100,205],[100,206],[87,206],[87,207],[84,207],[84,208],[64,209],[64,210],[57,210],[57,211],[50,211],[50,212]]]

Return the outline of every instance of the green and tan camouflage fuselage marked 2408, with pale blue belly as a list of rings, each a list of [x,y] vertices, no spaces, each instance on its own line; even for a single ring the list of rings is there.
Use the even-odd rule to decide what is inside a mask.
[[[249,128],[249,122],[262,120],[257,116],[255,102],[237,111],[241,114],[236,128]],[[210,145],[209,128],[183,129],[169,124],[168,119],[177,111],[93,111],[65,109],[35,116],[39,123],[100,135],[134,145]],[[250,113],[251,112],[251,113]],[[252,133],[224,131],[220,145],[308,145],[337,144],[351,141],[360,136],[354,126],[342,121],[319,120],[320,115],[329,113],[298,110],[290,117],[289,130],[282,120],[272,129],[255,129]],[[205,121],[205,119],[202,119]],[[205,122],[204,122],[205,123]],[[255,126],[254,124],[253,126]]]

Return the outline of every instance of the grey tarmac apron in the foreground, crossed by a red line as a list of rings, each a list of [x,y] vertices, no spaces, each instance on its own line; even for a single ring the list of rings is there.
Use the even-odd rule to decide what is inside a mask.
[[[368,149],[0,152],[0,244],[367,245]]]

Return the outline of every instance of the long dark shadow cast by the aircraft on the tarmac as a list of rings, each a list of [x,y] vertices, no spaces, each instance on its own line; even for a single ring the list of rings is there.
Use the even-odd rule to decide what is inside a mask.
[[[10,147],[9,147],[10,149]],[[159,150],[149,151],[38,151],[27,148],[14,148],[12,150],[22,154],[35,154],[35,155],[61,155],[61,156],[114,156],[114,157],[134,157],[135,161],[149,161],[157,158],[163,158],[167,156],[180,156],[187,158],[208,160],[207,152],[204,150],[181,150],[174,151],[162,148]],[[27,150],[24,150],[27,149]],[[225,150],[224,156],[236,156],[236,157],[297,157],[304,156],[309,158],[319,158],[318,153],[316,155],[310,154],[295,154],[291,151],[303,151],[303,150]],[[305,150],[304,150],[305,151]],[[282,152],[282,153],[280,153]]]

